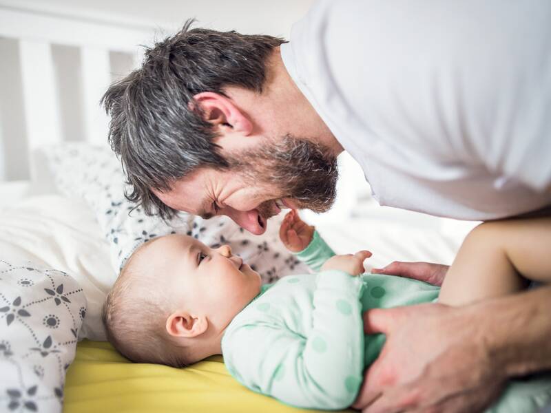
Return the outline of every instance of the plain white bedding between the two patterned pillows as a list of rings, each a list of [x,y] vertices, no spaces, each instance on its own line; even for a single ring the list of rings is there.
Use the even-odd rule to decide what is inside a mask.
[[[88,300],[81,338],[105,339],[101,306],[117,272],[92,210],[74,198],[36,196],[1,209],[0,228],[0,258],[70,273]]]

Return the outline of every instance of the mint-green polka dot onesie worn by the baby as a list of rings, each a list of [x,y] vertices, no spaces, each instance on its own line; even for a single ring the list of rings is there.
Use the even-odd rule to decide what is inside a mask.
[[[313,271],[333,255],[317,232],[297,254]],[[222,338],[224,361],[240,383],[284,403],[348,407],[384,343],[383,335],[364,335],[362,313],[433,301],[438,290],[412,279],[335,270],[284,277],[262,287],[231,321]]]

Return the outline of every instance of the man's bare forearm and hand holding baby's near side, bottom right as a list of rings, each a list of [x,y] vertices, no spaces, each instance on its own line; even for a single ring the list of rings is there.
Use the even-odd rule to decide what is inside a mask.
[[[510,377],[551,368],[551,286],[452,308],[374,309],[366,332],[384,332],[355,407],[477,412]]]

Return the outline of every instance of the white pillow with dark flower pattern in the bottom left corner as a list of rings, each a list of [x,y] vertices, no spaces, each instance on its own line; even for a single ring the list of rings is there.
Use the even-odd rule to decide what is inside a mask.
[[[0,260],[0,411],[61,412],[85,314],[66,273]]]

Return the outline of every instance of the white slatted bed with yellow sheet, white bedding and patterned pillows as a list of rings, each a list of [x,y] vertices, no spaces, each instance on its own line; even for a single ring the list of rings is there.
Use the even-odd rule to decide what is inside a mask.
[[[69,298],[67,282],[61,292],[57,284],[45,288],[52,291],[47,292],[52,308],[67,304],[74,336],[64,341],[72,346],[66,353],[55,353],[59,377],[45,410],[59,411],[63,405],[65,412],[81,413],[297,411],[243,388],[231,378],[222,357],[178,370],[129,363],[103,341],[103,299],[125,257],[150,237],[189,231],[210,244],[233,242],[245,257],[258,261],[265,282],[300,269],[284,255],[273,231],[281,217],[273,219],[272,230],[263,237],[252,237],[224,218],[207,224],[185,215],[171,226],[151,222],[139,211],[128,218],[123,176],[105,142],[107,118],[98,99],[115,76],[139,63],[136,45],[151,37],[151,28],[126,21],[94,21],[0,4],[0,45],[15,56],[15,64],[4,64],[2,71],[16,79],[3,85],[12,91],[11,106],[4,102],[0,107],[0,282],[1,274],[17,271],[23,274],[17,278],[19,291],[34,282],[28,273],[40,273],[54,284],[52,277],[57,276],[76,280]],[[23,115],[14,114],[12,106],[18,105]],[[78,115],[75,106],[81,108]],[[14,134],[18,122],[24,125],[21,136]],[[373,251],[372,266],[393,260],[450,264],[477,224],[379,207],[355,162],[344,155],[340,165],[334,209],[324,215],[303,214],[337,253],[367,248]],[[85,304],[77,305],[74,297]],[[21,307],[17,299],[5,301],[0,307]],[[14,313],[13,323],[25,319],[24,313]],[[48,313],[42,324],[53,332],[60,317]],[[15,348],[2,341],[1,334],[0,352],[8,360]],[[58,348],[51,338],[37,343],[42,353]],[[8,373],[0,373],[0,385],[8,386],[0,410],[40,407],[45,398],[34,383],[48,377],[47,368],[31,366],[34,373],[25,378],[22,365],[16,364],[19,376],[12,383]]]

